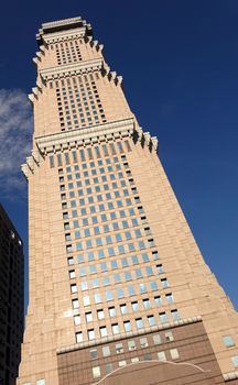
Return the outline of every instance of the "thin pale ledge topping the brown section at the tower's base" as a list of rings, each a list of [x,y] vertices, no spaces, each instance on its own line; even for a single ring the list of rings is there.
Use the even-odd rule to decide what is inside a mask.
[[[75,350],[96,346],[98,344],[113,342],[113,341],[116,342],[116,341],[119,341],[121,339],[134,338],[138,336],[143,336],[145,333],[152,333],[154,331],[173,329],[173,328],[177,328],[177,327],[181,327],[184,324],[195,323],[195,322],[201,322],[201,321],[202,321],[202,317],[197,316],[197,317],[192,317],[192,318],[187,318],[187,319],[183,319],[183,320],[178,320],[178,321],[174,321],[174,322],[167,322],[167,323],[164,323],[162,326],[154,326],[154,327],[150,327],[150,328],[144,328],[144,329],[141,329],[140,331],[130,331],[128,333],[121,333],[119,336],[113,336],[113,337],[106,337],[106,338],[102,338],[99,340],[75,343],[75,344],[69,345],[69,346],[64,346],[64,348],[57,349],[56,354],[64,354],[64,353],[73,352]]]

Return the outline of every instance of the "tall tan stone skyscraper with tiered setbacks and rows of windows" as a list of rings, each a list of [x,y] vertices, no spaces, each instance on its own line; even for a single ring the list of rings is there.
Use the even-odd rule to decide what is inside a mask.
[[[19,385],[238,384],[238,317],[80,18],[42,24]]]

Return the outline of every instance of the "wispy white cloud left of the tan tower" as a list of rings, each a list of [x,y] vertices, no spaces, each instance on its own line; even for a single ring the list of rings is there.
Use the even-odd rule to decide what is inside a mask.
[[[1,193],[22,190],[20,166],[31,150],[32,111],[28,97],[18,89],[0,89]]]

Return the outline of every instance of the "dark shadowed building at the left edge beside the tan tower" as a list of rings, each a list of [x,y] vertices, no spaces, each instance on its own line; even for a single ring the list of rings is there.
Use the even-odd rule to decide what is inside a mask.
[[[0,384],[14,385],[24,321],[22,241],[0,204]]]

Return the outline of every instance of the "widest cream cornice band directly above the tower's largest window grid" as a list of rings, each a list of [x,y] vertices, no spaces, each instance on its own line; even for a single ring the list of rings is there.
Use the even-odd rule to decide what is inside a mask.
[[[131,135],[134,130],[134,119],[123,119],[78,129],[60,132],[47,136],[37,136],[35,142],[42,154],[68,150],[82,145],[95,144]]]

